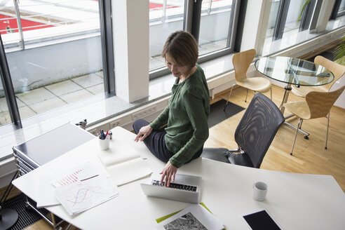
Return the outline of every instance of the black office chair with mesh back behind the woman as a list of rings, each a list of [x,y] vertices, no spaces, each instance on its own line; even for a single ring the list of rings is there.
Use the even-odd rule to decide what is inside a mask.
[[[237,149],[204,148],[204,158],[259,168],[278,128],[285,121],[268,97],[257,93],[245,111],[235,132]],[[238,152],[239,154],[235,154]]]

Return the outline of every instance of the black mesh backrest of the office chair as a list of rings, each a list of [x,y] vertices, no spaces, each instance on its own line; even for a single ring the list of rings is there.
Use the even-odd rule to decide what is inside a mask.
[[[276,104],[261,93],[255,94],[235,132],[236,143],[248,154],[255,168],[260,167],[284,121]]]

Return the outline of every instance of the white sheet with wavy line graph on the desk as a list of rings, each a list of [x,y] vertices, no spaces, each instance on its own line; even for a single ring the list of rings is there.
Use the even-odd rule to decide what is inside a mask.
[[[81,172],[85,171],[88,169]],[[93,208],[95,205],[108,201],[119,194],[110,177],[98,175],[97,171],[82,174],[83,177],[79,177],[76,182],[58,186],[55,190],[57,199],[69,215]],[[81,180],[81,178],[83,179]],[[61,182],[61,180],[57,181]]]

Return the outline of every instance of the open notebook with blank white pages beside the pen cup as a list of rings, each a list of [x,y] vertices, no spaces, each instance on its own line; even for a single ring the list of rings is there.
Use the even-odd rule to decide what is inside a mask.
[[[147,177],[152,173],[144,159],[129,144],[122,149],[116,148],[116,151],[112,149],[100,151],[98,156],[118,186]]]

